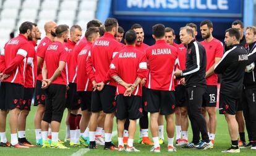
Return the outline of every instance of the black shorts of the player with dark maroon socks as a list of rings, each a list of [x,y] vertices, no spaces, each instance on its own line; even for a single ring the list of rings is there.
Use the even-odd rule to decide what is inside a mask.
[[[80,108],[79,95],[77,94],[77,83],[69,83],[67,90],[67,100],[65,107],[70,110],[78,110]]]

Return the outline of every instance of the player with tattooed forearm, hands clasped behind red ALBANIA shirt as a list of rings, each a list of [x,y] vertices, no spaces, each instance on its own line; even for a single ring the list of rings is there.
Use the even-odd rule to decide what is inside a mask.
[[[127,152],[139,152],[135,149],[134,134],[136,120],[142,117],[142,81],[147,76],[147,59],[145,53],[135,48],[137,35],[134,30],[126,32],[126,46],[112,60],[109,73],[118,83],[116,90],[116,118],[118,129],[118,147],[123,151],[124,123],[129,123],[129,139]],[[129,68],[127,68],[129,67]],[[128,118],[128,119],[127,119]]]

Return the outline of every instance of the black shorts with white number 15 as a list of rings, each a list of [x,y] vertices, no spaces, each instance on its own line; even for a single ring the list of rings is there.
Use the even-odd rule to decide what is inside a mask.
[[[218,88],[215,85],[207,85],[205,94],[203,94],[202,107],[216,107]]]

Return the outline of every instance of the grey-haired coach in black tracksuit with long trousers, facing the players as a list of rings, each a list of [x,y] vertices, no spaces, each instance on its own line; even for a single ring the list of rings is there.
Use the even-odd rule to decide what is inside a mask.
[[[180,31],[181,43],[187,45],[186,70],[176,70],[175,76],[184,76],[186,81],[186,101],[188,104],[189,120],[193,131],[192,143],[187,148],[194,148],[200,142],[200,133],[202,141],[205,142],[200,149],[208,149],[212,146],[207,134],[205,119],[201,113],[203,94],[206,89],[205,70],[206,54],[202,44],[191,38],[190,27],[183,27]]]

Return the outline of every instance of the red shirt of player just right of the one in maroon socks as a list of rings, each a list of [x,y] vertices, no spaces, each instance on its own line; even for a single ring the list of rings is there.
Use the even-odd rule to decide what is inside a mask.
[[[92,91],[92,82],[89,80],[86,72],[87,56],[92,46],[91,42],[80,51],[77,56],[77,91]]]

